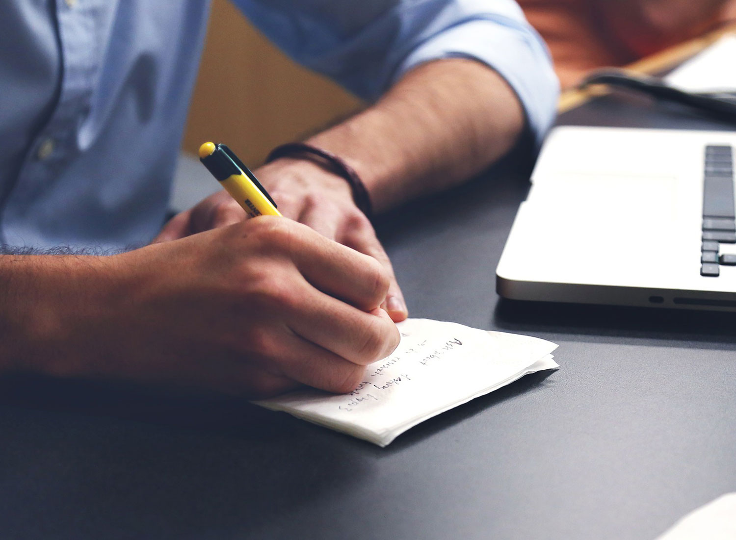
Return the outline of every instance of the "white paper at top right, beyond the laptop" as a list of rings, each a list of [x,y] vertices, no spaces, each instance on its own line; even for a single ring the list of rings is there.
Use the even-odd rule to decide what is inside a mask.
[[[736,92],[736,35],[725,35],[665,80],[688,92]]]

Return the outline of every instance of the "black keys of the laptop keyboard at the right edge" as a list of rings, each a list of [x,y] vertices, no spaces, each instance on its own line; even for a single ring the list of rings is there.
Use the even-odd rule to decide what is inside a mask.
[[[736,266],[736,255],[718,256],[719,244],[736,244],[734,155],[731,146],[706,146],[703,182],[701,276],[718,277],[721,265]]]

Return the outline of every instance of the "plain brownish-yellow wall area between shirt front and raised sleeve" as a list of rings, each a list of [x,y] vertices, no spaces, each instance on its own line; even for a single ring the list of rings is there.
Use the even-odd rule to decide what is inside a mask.
[[[226,143],[252,166],[274,146],[360,107],[333,82],[294,64],[227,0],[214,0],[183,149]]]

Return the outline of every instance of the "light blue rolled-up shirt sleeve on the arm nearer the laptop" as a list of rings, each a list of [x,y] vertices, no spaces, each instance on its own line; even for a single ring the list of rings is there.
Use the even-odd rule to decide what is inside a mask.
[[[449,57],[478,60],[512,87],[537,142],[553,123],[551,57],[513,0],[236,0],[298,63],[363,99],[406,71]],[[489,107],[492,107],[489,104]]]

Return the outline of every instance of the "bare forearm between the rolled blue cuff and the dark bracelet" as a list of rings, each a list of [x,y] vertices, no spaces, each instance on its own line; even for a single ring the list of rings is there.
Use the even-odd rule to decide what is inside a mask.
[[[509,152],[523,124],[500,75],[447,59],[408,72],[377,104],[308,142],[353,166],[381,211],[482,171]]]

